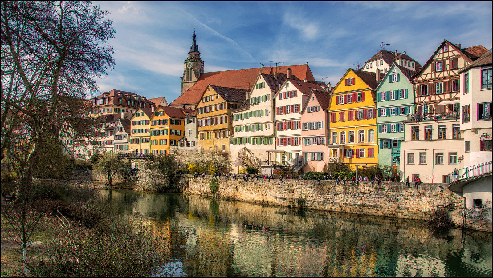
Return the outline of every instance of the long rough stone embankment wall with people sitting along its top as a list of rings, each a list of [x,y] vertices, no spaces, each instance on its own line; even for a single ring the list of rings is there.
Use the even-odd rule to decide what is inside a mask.
[[[210,195],[211,179],[211,176],[195,179],[193,175],[182,175],[179,186],[183,192]],[[246,182],[242,178],[236,181],[222,178],[217,194],[223,198],[291,207],[298,207],[298,199],[306,196],[309,209],[420,220],[426,219],[425,213],[432,206],[463,205],[463,198],[450,191],[446,184],[422,184],[419,188],[392,182],[382,182],[381,187],[370,182],[350,184],[321,181],[318,185],[317,181],[305,180],[281,183],[274,179],[257,182],[256,178]]]

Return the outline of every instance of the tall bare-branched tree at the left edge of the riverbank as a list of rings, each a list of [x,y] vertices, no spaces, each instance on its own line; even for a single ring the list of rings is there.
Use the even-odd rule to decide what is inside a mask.
[[[1,154],[17,169],[11,175],[22,219],[9,224],[24,254],[39,220],[28,204],[41,154],[48,142],[59,142],[63,121],[85,117],[83,99],[99,90],[94,79],[114,65],[107,14],[90,2],[1,2]],[[28,227],[15,224],[26,221]]]

